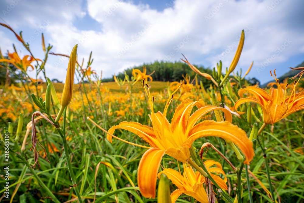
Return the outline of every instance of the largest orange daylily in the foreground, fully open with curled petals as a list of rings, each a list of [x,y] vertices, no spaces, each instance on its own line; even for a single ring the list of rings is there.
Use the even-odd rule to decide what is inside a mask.
[[[160,111],[154,113],[154,97],[151,98],[150,88],[144,81],[143,85],[149,98],[152,111],[150,119],[153,128],[137,122],[121,122],[119,125],[109,129],[107,139],[112,143],[114,131],[116,129],[125,129],[143,138],[152,147],[143,154],[138,166],[138,186],[144,197],[155,198],[157,172],[164,154],[172,156],[183,163],[188,162],[190,159],[189,148],[192,142],[198,138],[214,136],[230,140],[244,153],[246,157],[244,163],[249,164],[252,160],[254,156],[253,144],[247,138],[245,131],[231,124],[232,115],[228,110],[215,106],[205,106],[203,100],[193,101],[187,99],[182,101],[177,107],[170,124],[166,119],[166,114],[169,104],[173,99],[173,94],[178,89],[169,97],[164,108],[164,114],[162,114]],[[198,107],[198,110],[190,116],[194,106]],[[226,121],[216,122],[206,120],[196,124],[202,116],[213,110],[222,110],[226,115]]]

